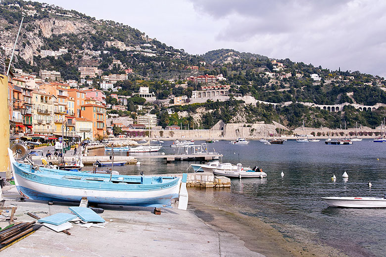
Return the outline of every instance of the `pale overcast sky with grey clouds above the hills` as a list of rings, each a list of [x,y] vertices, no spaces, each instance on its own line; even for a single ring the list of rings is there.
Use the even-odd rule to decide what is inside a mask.
[[[191,54],[231,48],[386,77],[385,0],[45,0]]]

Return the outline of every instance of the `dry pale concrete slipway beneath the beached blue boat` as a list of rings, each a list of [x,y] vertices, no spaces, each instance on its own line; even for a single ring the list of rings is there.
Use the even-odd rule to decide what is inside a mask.
[[[9,187],[8,187],[9,188]],[[56,213],[70,213],[71,203],[27,200],[17,202],[20,195],[13,186],[3,188],[5,206],[17,205],[18,221],[33,221],[26,213],[41,217]],[[258,256],[248,250],[237,236],[213,227],[192,212],[163,209],[161,215],[153,208],[100,206],[100,214],[109,223],[105,228],[85,228],[73,225],[71,235],[56,233],[41,227],[34,234],[3,250],[1,256],[72,257],[72,256]],[[40,212],[46,212],[47,214]],[[110,221],[112,220],[112,221]],[[7,222],[0,222],[5,227]]]

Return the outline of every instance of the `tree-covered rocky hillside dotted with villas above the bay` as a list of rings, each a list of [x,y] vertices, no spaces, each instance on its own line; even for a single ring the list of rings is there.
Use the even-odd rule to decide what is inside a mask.
[[[314,127],[337,128],[344,121],[349,127],[355,126],[356,122],[375,127],[380,125],[386,114],[384,107],[363,112],[347,106],[334,113],[297,104],[386,104],[386,82],[378,76],[359,71],[333,71],[290,59],[274,59],[233,49],[191,55],[128,25],[96,20],[76,10],[39,2],[1,1],[0,28],[3,33],[0,35],[0,53],[5,57],[10,55],[22,13],[26,17],[16,47],[14,69],[38,77],[41,70],[57,71],[64,82],[73,80],[80,87],[85,86],[78,72],[80,66],[97,67],[102,76],[126,74],[132,69],[127,80],[114,85],[121,88],[117,94],[130,96],[138,92],[140,86],[148,86],[157,100],[146,103],[146,110],[157,114],[159,125],[163,127],[184,123],[191,127],[210,128],[220,119],[248,123],[271,123],[280,119],[290,128],[300,126],[303,119],[308,126]],[[209,86],[229,85],[233,94],[249,95],[265,102],[292,104],[273,109],[270,105],[248,105],[231,97],[225,102],[209,100],[174,106],[176,114],[168,114],[167,107],[162,103],[173,102],[174,96],[190,99],[193,90],[208,86],[195,83],[190,77],[205,74],[213,78],[222,76],[221,80],[216,79],[214,85]],[[102,76],[86,79],[92,80],[93,85],[99,88]],[[107,104],[116,104],[116,99],[110,94],[111,89],[106,90]],[[111,112],[133,118],[145,113],[137,109],[145,99],[137,98],[128,102],[127,111]]]

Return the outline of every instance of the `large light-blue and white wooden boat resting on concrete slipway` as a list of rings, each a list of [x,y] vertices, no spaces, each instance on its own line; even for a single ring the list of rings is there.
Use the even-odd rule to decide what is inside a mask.
[[[9,159],[19,193],[32,200],[80,202],[87,197],[98,204],[145,207],[171,207],[178,198],[181,178],[175,176],[128,176],[48,168],[34,170],[31,165]]]

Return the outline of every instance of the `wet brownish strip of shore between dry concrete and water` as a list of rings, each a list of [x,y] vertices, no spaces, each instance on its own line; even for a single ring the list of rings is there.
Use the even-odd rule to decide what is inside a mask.
[[[206,189],[208,190],[208,189]],[[234,234],[250,251],[267,257],[348,257],[331,246],[285,237],[278,229],[258,217],[224,210],[203,203],[196,190],[189,190],[188,210],[218,231]],[[220,234],[219,234],[220,235]]]

